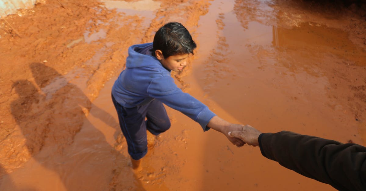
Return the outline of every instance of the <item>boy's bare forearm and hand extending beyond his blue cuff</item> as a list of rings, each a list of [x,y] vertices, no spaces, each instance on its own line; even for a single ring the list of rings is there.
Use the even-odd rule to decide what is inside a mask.
[[[225,121],[224,119],[221,119],[219,116],[214,116],[208,122],[207,127],[223,133],[233,145],[241,147],[245,144],[242,140],[238,138],[228,136],[228,132],[230,131],[241,131],[243,129],[242,125],[232,124],[228,121]]]

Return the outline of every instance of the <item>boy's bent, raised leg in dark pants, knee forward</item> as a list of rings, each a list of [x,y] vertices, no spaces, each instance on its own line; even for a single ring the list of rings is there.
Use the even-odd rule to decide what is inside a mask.
[[[153,135],[159,135],[170,128],[167,111],[161,101],[154,99],[149,103],[146,113],[146,128]]]

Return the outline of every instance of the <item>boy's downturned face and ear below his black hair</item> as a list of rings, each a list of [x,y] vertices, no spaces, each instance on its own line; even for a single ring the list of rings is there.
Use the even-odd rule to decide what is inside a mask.
[[[156,50],[160,51],[160,50]],[[167,58],[164,58],[163,54],[155,53],[156,58],[160,61],[160,63],[167,69],[178,72],[187,65],[187,58],[189,54],[184,55],[172,55]]]

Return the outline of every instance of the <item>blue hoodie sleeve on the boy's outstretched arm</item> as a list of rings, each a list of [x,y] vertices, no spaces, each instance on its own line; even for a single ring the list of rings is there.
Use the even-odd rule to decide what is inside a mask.
[[[216,116],[205,104],[179,89],[170,76],[153,79],[147,93],[199,123],[203,131],[209,130],[207,124]]]

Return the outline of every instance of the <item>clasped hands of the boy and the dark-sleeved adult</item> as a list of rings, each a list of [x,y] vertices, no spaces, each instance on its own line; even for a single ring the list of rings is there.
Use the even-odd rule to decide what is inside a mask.
[[[229,141],[238,147],[244,144],[259,146],[258,137],[261,132],[250,125],[231,124],[226,128],[226,131]]]

